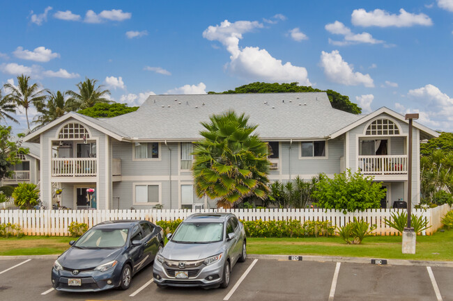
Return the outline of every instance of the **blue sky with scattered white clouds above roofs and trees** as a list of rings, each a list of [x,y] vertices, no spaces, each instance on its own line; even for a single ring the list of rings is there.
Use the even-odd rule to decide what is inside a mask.
[[[453,131],[453,0],[2,1],[1,11],[2,85],[24,73],[75,90],[89,77],[139,105],[298,81],[348,95],[364,113],[419,112]]]

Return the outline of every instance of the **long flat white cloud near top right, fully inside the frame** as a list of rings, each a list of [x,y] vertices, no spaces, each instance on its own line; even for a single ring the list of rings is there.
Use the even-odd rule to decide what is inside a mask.
[[[410,27],[414,25],[431,26],[433,24],[431,18],[424,13],[416,15],[406,12],[403,8],[399,10],[399,15],[390,14],[385,10],[380,9],[367,12],[367,10],[360,8],[353,11],[351,15],[351,22],[355,26],[364,27]]]

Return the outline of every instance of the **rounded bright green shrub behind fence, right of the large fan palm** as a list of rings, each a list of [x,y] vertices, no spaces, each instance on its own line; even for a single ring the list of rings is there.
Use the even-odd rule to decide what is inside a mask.
[[[364,177],[360,172],[353,174],[351,170],[335,174],[333,179],[320,174],[315,186],[313,197],[316,206],[341,210],[343,213],[381,208],[381,200],[385,197],[381,183],[374,182],[371,177]]]

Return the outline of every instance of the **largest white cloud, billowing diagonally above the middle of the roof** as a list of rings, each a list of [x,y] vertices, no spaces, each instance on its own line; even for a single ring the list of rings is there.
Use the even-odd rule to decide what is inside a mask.
[[[225,20],[219,25],[209,26],[203,32],[207,40],[221,42],[231,54],[227,68],[233,74],[247,79],[259,81],[298,81],[302,85],[310,85],[305,67],[293,66],[282,60],[273,58],[266,49],[259,47],[245,47],[240,49],[239,40],[243,33],[262,28],[259,22],[238,21],[234,23]]]

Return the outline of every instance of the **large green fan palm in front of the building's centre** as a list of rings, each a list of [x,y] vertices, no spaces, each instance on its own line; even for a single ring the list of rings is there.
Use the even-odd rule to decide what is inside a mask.
[[[218,206],[233,206],[245,197],[266,199],[269,188],[268,145],[252,132],[257,125],[233,111],[201,122],[203,140],[194,145],[194,186],[199,197],[217,199]]]

